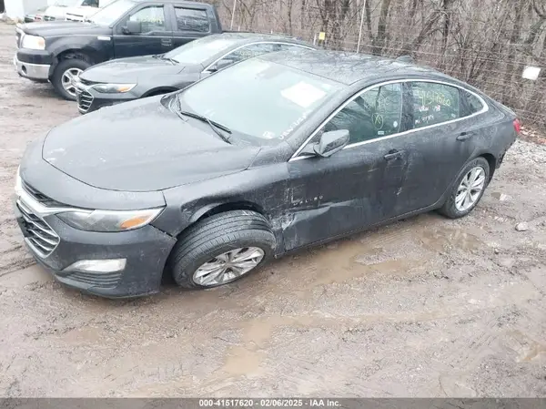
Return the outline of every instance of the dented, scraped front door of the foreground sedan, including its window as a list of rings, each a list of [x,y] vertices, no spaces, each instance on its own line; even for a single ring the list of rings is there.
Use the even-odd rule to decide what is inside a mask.
[[[322,131],[348,129],[346,148],[329,158],[302,154],[288,162],[287,251],[396,216],[408,168],[407,150],[395,142],[402,122],[402,85],[369,89],[309,141]]]

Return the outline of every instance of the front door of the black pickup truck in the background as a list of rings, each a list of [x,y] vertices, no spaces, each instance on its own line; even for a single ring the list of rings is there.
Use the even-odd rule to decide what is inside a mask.
[[[142,33],[124,34],[124,27],[129,20],[139,21]],[[173,31],[167,5],[138,5],[114,27],[116,58],[162,54],[172,48]]]

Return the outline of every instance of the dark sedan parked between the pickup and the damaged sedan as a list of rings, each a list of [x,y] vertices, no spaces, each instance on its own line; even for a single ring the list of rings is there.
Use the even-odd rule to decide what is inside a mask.
[[[80,113],[141,97],[187,87],[221,68],[275,51],[314,49],[288,36],[224,33],[199,38],[167,54],[107,61],[88,68],[76,79]]]

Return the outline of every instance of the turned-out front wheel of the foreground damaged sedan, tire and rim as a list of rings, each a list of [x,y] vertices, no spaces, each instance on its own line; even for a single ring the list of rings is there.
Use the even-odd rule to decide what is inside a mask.
[[[273,256],[275,243],[275,235],[269,228],[268,220],[262,215],[250,210],[227,211],[198,221],[183,232],[169,256],[167,268],[181,287],[188,289],[213,288],[236,281],[248,275],[249,272],[257,270]],[[227,267],[225,275],[220,274],[221,279],[217,279],[217,281],[210,281],[214,273],[202,276],[201,281],[195,275],[199,274],[200,268],[200,271],[205,271],[209,270],[210,266],[220,265],[221,269],[222,265],[227,265],[222,263],[229,262],[225,261],[227,259],[232,260],[233,258],[235,263],[238,255],[247,254],[244,249],[248,249],[249,255],[257,255],[245,264],[246,269],[248,264],[254,265],[256,262],[254,267],[248,271],[240,273],[242,270],[237,265],[236,274],[235,270],[230,270],[230,267]],[[252,252],[253,249],[256,251]],[[261,259],[260,252],[263,253]],[[217,257],[222,260],[217,260]],[[224,277],[228,281],[222,281]],[[208,282],[202,282],[207,280]]]

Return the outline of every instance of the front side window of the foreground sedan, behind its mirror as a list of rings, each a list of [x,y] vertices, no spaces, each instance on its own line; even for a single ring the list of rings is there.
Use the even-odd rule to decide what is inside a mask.
[[[352,100],[324,127],[349,130],[349,144],[386,137],[400,131],[402,86],[388,84],[369,89]]]

